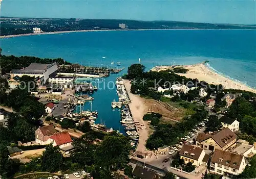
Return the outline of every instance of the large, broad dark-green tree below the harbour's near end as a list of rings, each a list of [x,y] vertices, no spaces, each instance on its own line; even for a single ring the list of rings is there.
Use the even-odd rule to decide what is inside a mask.
[[[122,135],[106,136],[95,150],[95,163],[108,170],[124,168],[129,162],[130,150],[129,137]]]

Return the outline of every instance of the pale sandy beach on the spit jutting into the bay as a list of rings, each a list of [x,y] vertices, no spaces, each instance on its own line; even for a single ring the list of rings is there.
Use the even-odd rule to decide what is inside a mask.
[[[210,68],[208,68],[205,64],[199,63],[195,65],[185,65],[184,68],[188,69],[187,73],[177,73],[182,76],[186,76],[186,78],[198,79],[200,81],[205,81],[209,84],[222,84],[224,89],[240,89],[245,91],[251,91],[256,93],[256,90],[246,86],[246,84],[236,82],[223,76]],[[152,68],[153,71],[161,71],[172,69],[171,66],[156,66]]]

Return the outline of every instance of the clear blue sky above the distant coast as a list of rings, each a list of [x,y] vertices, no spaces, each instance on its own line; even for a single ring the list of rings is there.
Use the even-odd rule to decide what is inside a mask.
[[[256,24],[256,0],[3,0],[1,16]]]

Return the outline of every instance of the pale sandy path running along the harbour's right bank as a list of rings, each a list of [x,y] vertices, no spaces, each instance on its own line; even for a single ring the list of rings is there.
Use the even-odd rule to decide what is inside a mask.
[[[136,151],[144,152],[146,150],[145,144],[146,140],[148,139],[148,129],[149,126],[146,121],[143,121],[144,114],[147,113],[147,109],[144,103],[144,99],[141,98],[138,95],[131,93],[131,84],[129,80],[123,80],[124,86],[126,88],[126,91],[131,99],[131,102],[129,104],[129,108],[131,110],[131,113],[133,115],[133,119],[135,122],[139,122],[140,126],[137,126],[137,131],[139,134],[139,142],[138,146],[136,148]],[[141,127],[141,129],[140,129]]]

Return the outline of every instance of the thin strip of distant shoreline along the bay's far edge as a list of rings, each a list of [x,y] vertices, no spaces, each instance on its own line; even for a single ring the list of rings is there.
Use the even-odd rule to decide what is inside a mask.
[[[30,34],[17,34],[0,36],[2,38],[12,38],[31,35],[45,35],[45,34],[62,34],[62,33],[74,33],[74,32],[100,32],[100,31],[174,31],[174,30],[256,30],[256,29],[106,29],[106,30],[79,30],[79,31],[55,31],[55,32],[42,32],[42,33],[30,33]]]

